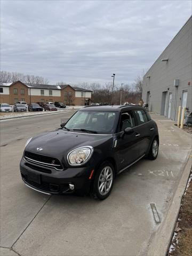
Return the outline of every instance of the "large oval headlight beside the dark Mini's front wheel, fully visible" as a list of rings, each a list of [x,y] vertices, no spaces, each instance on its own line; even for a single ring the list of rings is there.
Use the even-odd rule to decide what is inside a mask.
[[[93,147],[85,146],[76,148],[67,155],[70,165],[82,165],[86,163],[93,154]]]

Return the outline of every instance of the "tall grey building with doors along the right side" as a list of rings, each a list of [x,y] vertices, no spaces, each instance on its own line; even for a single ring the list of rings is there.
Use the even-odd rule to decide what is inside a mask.
[[[149,110],[177,120],[179,106],[192,111],[192,16],[150,67],[142,99]]]

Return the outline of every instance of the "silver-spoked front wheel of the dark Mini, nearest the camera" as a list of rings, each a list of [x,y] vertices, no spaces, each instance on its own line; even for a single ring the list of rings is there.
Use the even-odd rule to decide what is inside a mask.
[[[95,199],[106,199],[113,188],[115,178],[114,167],[110,162],[101,164],[95,176],[93,195]]]

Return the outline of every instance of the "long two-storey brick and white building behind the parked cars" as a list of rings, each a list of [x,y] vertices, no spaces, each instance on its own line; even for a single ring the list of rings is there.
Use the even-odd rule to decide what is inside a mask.
[[[13,105],[18,101],[27,103],[59,101],[67,105],[90,105],[92,91],[70,85],[27,84],[20,81],[0,83],[0,102]]]

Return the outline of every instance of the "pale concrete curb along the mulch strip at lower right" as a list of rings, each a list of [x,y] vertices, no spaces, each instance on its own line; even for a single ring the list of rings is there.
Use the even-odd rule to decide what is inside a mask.
[[[166,217],[162,223],[162,226],[157,230],[153,242],[150,244],[149,250],[147,252],[148,256],[165,256],[167,255],[167,251],[169,251],[175,223],[178,220],[178,215],[180,212],[182,196],[185,193],[189,179],[191,165],[192,155],[190,153]]]

